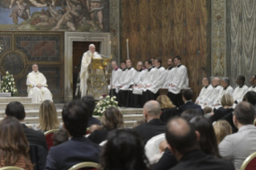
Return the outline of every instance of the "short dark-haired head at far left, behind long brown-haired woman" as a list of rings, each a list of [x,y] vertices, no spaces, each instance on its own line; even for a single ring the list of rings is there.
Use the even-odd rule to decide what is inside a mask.
[[[11,102],[6,106],[6,115],[14,116],[18,120],[25,119],[24,106],[19,102]]]

